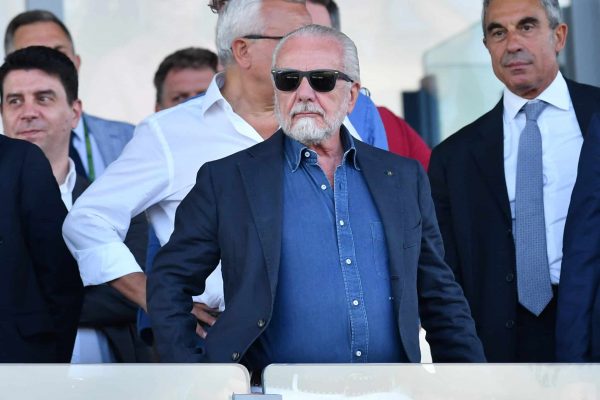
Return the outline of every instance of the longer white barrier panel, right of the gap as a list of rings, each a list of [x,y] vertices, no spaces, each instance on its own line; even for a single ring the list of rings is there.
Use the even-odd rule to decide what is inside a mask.
[[[270,365],[283,400],[600,400],[600,364]]]

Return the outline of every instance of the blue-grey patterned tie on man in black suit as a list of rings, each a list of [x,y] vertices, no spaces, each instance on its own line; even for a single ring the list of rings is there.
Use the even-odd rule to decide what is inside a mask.
[[[515,246],[519,303],[536,316],[552,299],[544,219],[542,135],[537,119],[543,101],[525,105],[525,129],[519,139],[515,195]]]

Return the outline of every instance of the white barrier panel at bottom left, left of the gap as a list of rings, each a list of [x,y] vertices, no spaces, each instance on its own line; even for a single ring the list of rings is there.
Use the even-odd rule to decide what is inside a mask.
[[[250,393],[237,364],[0,364],[2,400],[230,400]]]

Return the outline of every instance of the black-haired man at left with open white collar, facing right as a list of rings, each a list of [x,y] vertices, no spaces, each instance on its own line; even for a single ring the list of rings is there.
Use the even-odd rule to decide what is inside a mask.
[[[81,116],[75,66],[56,50],[33,46],[9,54],[2,68],[5,133],[42,149],[50,161],[63,203],[70,209],[89,184],[76,173],[69,158],[71,129]],[[144,232],[140,233],[143,239]],[[128,243],[135,243],[135,238],[128,239]],[[72,361],[149,360],[143,357],[142,348],[138,351],[140,357],[136,357],[135,318],[135,305],[115,289],[108,285],[86,288]]]

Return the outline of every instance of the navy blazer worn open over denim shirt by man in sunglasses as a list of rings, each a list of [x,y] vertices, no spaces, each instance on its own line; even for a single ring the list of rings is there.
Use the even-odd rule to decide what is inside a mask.
[[[239,361],[266,329],[280,264],[281,131],[206,163],[177,209],[175,231],[148,277],[148,307],[164,362]],[[420,361],[419,317],[435,361],[483,362],[469,307],[444,262],[429,183],[414,160],[355,142],[383,221],[400,338]],[[226,309],[198,346],[192,295],[221,260]]]

